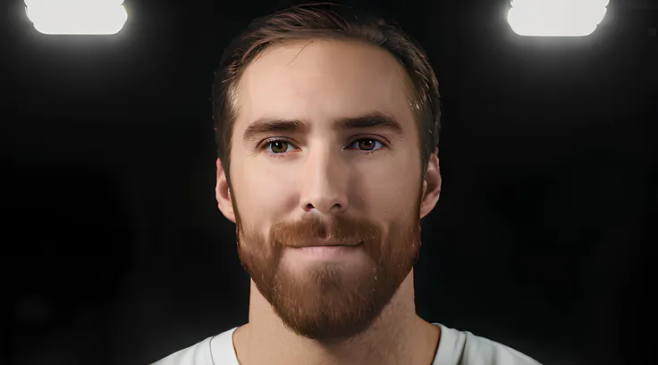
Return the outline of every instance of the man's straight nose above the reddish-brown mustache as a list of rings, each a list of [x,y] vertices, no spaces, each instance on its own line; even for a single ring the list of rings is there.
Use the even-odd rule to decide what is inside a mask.
[[[308,154],[299,196],[305,212],[335,214],[347,210],[349,175],[340,153],[316,150]]]

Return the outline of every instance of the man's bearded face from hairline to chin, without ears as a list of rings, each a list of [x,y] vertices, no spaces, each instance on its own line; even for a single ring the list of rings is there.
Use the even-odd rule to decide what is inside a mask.
[[[329,343],[366,330],[418,257],[423,181],[408,90],[392,55],[356,41],[270,46],[240,79],[240,261],[300,336]]]

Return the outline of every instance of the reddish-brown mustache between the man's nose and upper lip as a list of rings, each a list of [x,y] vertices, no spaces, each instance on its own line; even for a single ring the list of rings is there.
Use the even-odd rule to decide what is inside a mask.
[[[279,247],[303,247],[318,240],[330,240],[333,245],[367,244],[381,237],[382,228],[377,224],[350,216],[312,215],[279,222],[270,231],[270,242]]]

